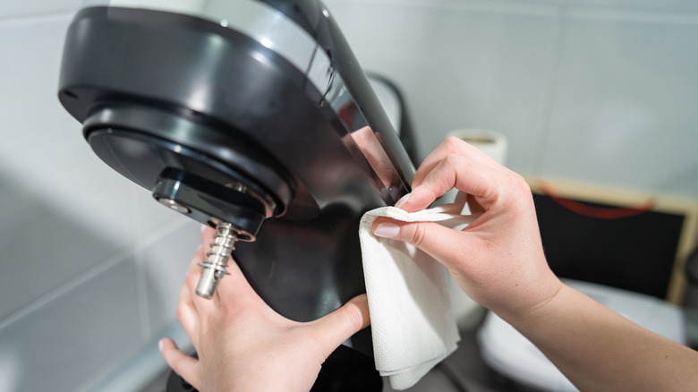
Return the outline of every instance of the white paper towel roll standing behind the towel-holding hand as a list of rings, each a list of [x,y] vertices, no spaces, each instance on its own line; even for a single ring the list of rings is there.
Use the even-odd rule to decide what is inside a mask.
[[[484,151],[499,164],[506,166],[508,142],[503,134],[487,129],[464,128],[448,132],[447,137],[451,136],[472,144]],[[444,195],[439,201],[441,203],[453,202],[456,194],[457,190],[454,189]],[[463,213],[466,215],[470,214],[470,210],[467,206]],[[455,314],[455,320],[458,322],[458,327],[461,329],[473,328],[484,313],[484,308],[472,301],[472,299],[455,284],[453,279],[449,279],[448,285],[448,292],[451,296],[451,306]]]

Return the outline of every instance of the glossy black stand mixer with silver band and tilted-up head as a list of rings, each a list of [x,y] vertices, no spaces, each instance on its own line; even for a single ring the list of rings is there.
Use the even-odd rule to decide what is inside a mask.
[[[413,164],[316,0],[85,1],[58,97],[108,166],[217,228],[206,298],[234,256],[285,317],[334,311],[365,290],[362,214],[410,190]],[[363,331],[313,390],[341,390],[370,354]],[[375,379],[365,368],[359,379]]]

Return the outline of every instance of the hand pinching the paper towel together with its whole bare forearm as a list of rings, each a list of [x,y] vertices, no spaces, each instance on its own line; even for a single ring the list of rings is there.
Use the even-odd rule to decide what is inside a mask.
[[[543,255],[528,185],[480,150],[448,139],[396,206],[426,209],[454,187],[476,216],[463,231],[377,219],[374,234],[430,253],[466,294],[524,334],[580,390],[698,390],[693,350],[562,285]]]

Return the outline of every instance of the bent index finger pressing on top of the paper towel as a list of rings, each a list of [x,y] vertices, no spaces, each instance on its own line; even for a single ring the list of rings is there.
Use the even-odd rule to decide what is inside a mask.
[[[481,161],[450,154],[424,177],[412,193],[401,200],[399,207],[408,212],[426,209],[434,200],[453,188],[471,194],[482,207],[496,199],[497,183],[505,174]]]

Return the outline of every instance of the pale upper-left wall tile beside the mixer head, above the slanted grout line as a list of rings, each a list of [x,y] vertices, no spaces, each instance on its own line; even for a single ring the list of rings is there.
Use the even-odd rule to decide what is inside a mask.
[[[48,16],[0,23],[0,48],[13,60],[0,64],[0,171],[81,225],[96,231],[108,225],[111,241],[131,243],[134,187],[95,160],[81,125],[56,97],[69,21]]]

